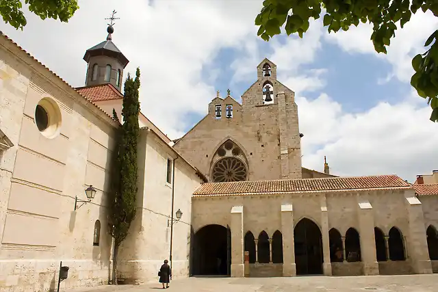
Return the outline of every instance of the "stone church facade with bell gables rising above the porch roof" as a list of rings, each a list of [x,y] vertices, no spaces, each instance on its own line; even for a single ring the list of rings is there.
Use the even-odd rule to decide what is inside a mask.
[[[175,149],[209,177],[216,150],[231,139],[240,146],[248,161],[249,181],[301,178],[294,92],[274,76],[263,77],[260,73],[259,79],[242,95],[242,105],[231,96],[214,98],[209,103],[207,116],[181,137]],[[263,84],[267,81],[274,88],[272,104],[263,104]],[[216,119],[215,105],[222,107],[220,119]],[[227,105],[233,105],[233,118],[226,118]]]

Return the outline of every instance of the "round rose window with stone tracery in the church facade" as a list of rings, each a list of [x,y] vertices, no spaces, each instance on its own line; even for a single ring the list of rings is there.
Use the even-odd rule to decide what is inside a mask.
[[[224,181],[245,181],[246,165],[235,157],[220,159],[213,167],[212,178],[215,183]]]

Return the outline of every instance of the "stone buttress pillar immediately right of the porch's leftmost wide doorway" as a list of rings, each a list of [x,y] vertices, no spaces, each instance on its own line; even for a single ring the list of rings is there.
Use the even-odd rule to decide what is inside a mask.
[[[233,206],[231,208],[231,277],[244,276],[244,207]]]

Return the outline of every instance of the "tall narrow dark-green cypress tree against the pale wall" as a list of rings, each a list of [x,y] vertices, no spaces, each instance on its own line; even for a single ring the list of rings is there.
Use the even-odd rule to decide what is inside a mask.
[[[129,226],[136,216],[137,196],[137,141],[140,133],[138,114],[140,101],[140,69],[136,79],[128,74],[123,95],[123,125],[118,129],[116,150],[113,155],[112,189],[109,196],[108,224],[110,235],[114,238],[113,284],[117,284],[117,255],[120,243],[127,237]],[[113,110],[115,120],[118,120]]]

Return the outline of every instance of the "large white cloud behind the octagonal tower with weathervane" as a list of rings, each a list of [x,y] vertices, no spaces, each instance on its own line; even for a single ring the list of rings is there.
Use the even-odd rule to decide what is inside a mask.
[[[105,2],[105,3],[104,3]],[[253,38],[257,1],[131,0],[79,1],[69,23],[27,13],[24,31],[5,26],[3,32],[73,86],[85,80],[86,49],[106,38],[105,18],[115,9],[113,41],[130,60],[125,69],[140,66],[142,111],[170,137],[187,127],[188,112],[203,114],[216,96],[201,78],[204,64],[224,47],[238,47]],[[107,9],[102,9],[107,7]],[[214,79],[214,76],[212,77]],[[166,114],[163,114],[163,113]]]

